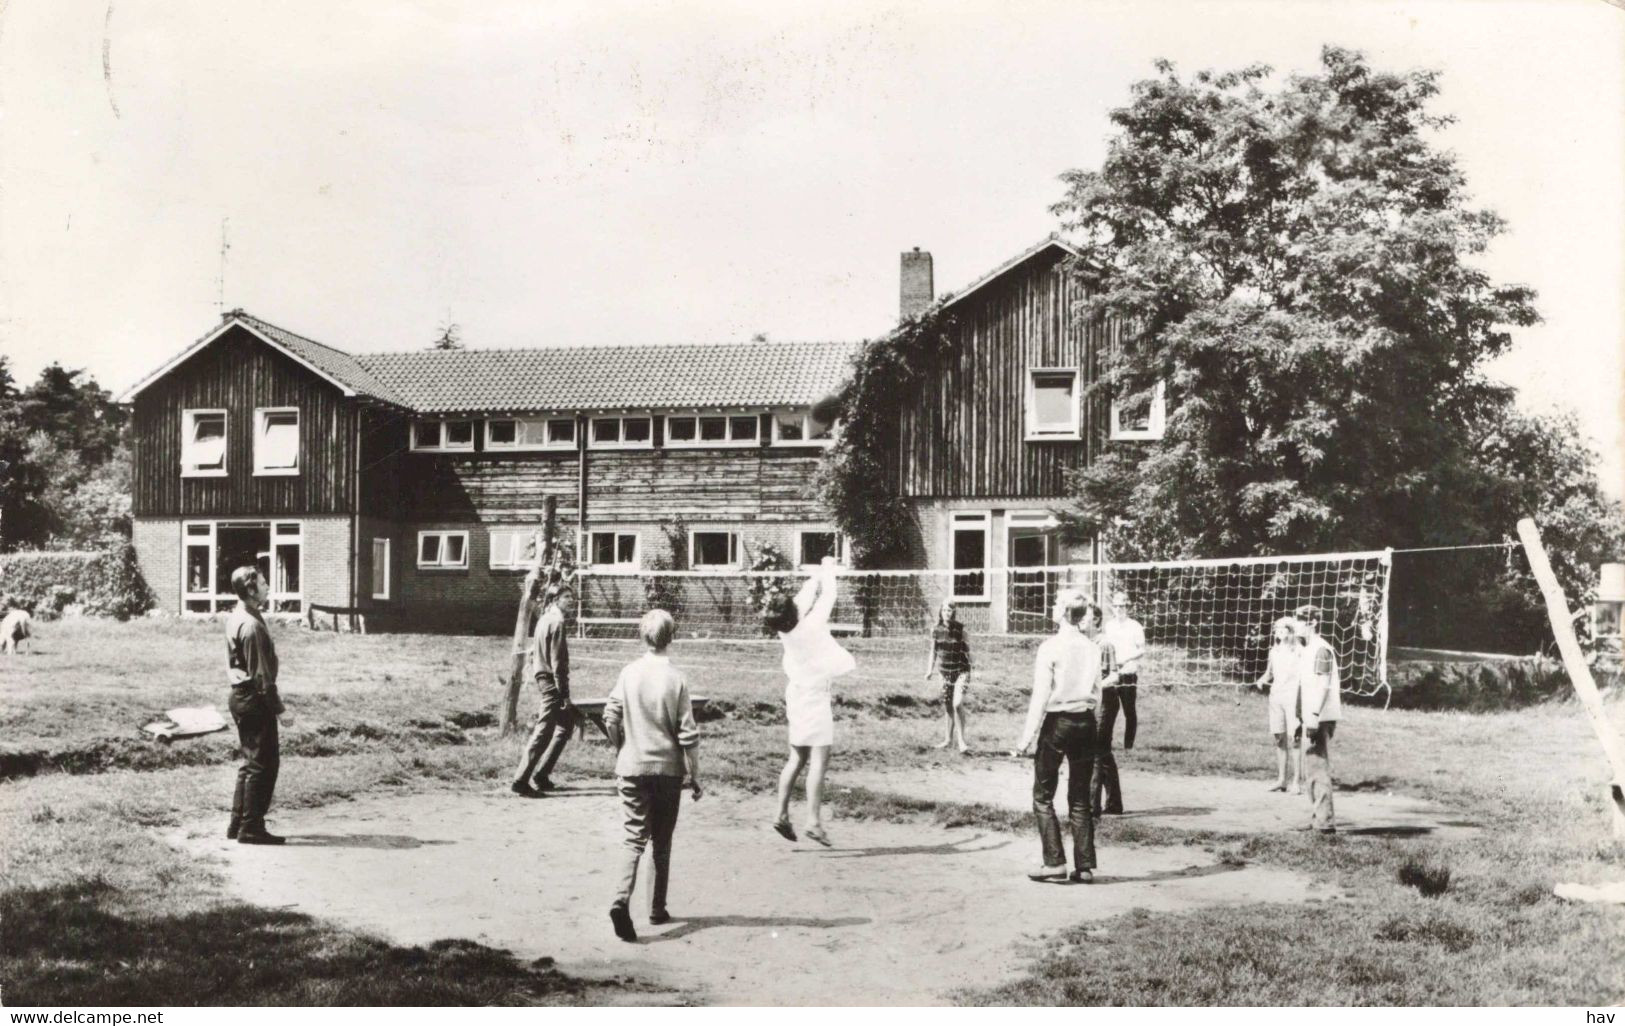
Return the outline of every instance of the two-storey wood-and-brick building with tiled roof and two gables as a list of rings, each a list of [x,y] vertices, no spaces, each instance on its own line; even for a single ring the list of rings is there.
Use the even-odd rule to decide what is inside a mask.
[[[1050,507],[1110,437],[1160,410],[1086,403],[1103,328],[1071,317],[1072,250],[1046,239],[947,301],[954,356],[902,416],[890,470],[916,512],[915,563],[939,569],[1089,559]],[[931,302],[930,254],[902,255],[900,312]],[[135,548],[159,608],[229,606],[262,566],[273,611],[364,608],[398,626],[491,628],[551,496],[595,571],[728,569],[770,543],[843,556],[808,483],[856,343],[416,350],[353,354],[242,311],[135,387]],[[682,532],[671,527],[681,520]],[[1037,590],[962,574],[988,616]],[[1029,608],[1030,606],[1030,608]]]

